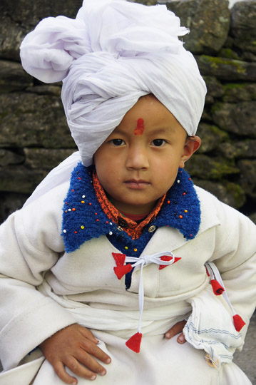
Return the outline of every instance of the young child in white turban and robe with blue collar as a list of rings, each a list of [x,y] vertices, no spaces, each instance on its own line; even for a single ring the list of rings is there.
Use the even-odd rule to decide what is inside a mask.
[[[0,227],[1,385],[250,384],[232,354],[256,230],[184,170],[206,91],[186,32],[165,6],[85,0],[21,44],[63,80],[79,152]]]

